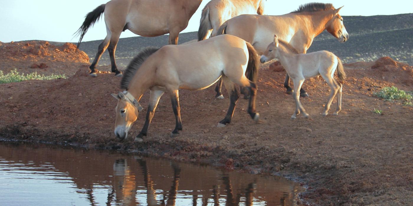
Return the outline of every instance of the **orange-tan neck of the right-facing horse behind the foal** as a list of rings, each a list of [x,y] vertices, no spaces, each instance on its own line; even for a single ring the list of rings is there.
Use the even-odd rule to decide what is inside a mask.
[[[299,14],[303,15],[302,17],[308,19],[311,23],[306,25],[309,29],[309,36],[312,38],[318,36],[326,29],[326,24],[332,18],[332,12],[334,10],[326,10],[326,11],[319,11],[319,12],[306,12],[306,14]],[[306,21],[308,22],[308,21]]]

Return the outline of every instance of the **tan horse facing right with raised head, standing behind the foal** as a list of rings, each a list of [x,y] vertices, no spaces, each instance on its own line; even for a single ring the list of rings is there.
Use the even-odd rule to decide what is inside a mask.
[[[324,30],[336,37],[339,42],[349,38],[343,24],[343,17],[338,13],[342,7],[335,9],[332,4],[309,3],[299,9],[280,16],[240,15],[234,17],[219,28],[218,33],[235,35],[254,46],[258,54],[263,54],[268,44],[273,42],[273,35],[289,42],[299,53],[306,53],[313,43],[314,37]],[[285,77],[284,87],[287,94],[292,94],[290,77]],[[216,97],[220,97],[221,82],[216,86]],[[302,97],[308,96],[301,89]]]

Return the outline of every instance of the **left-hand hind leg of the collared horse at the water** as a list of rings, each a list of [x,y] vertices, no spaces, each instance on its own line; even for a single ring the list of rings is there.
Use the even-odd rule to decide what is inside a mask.
[[[224,127],[226,124],[231,123],[231,119],[235,111],[235,106],[237,105],[238,98],[240,98],[240,94],[238,94],[237,87],[235,87],[234,82],[231,82],[226,76],[222,76],[221,79],[223,80],[225,89],[227,89],[228,95],[230,96],[230,107],[228,108],[228,112],[227,115],[225,115],[225,118],[218,123],[218,127]]]

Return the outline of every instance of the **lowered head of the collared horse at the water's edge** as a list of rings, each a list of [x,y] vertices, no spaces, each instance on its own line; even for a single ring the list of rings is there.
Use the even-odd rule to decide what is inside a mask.
[[[120,139],[128,137],[128,131],[131,129],[133,122],[138,119],[142,106],[127,91],[111,94],[118,101],[116,105],[115,136]]]

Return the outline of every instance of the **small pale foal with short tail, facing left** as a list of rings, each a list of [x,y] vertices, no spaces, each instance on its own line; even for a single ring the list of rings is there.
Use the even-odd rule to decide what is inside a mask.
[[[343,81],[346,78],[346,74],[344,73],[343,64],[337,56],[328,51],[299,54],[291,44],[278,39],[277,35],[274,35],[273,42],[268,45],[266,51],[261,56],[260,61],[261,63],[265,63],[275,58],[280,60],[282,66],[284,66],[287,74],[292,78],[292,82],[294,83],[293,96],[296,103],[296,110],[291,116],[292,119],[297,118],[300,111],[303,112],[304,117],[310,117],[300,103],[300,95],[298,91],[303,85],[304,80],[318,75],[321,75],[328,86],[330,86],[330,98],[325,104],[323,116],[328,115],[328,110],[330,110],[330,105],[337,92],[339,93],[337,97],[337,110],[333,115],[338,115],[338,112],[341,111],[343,85],[335,80],[334,73],[337,70],[337,76],[340,81]]]

